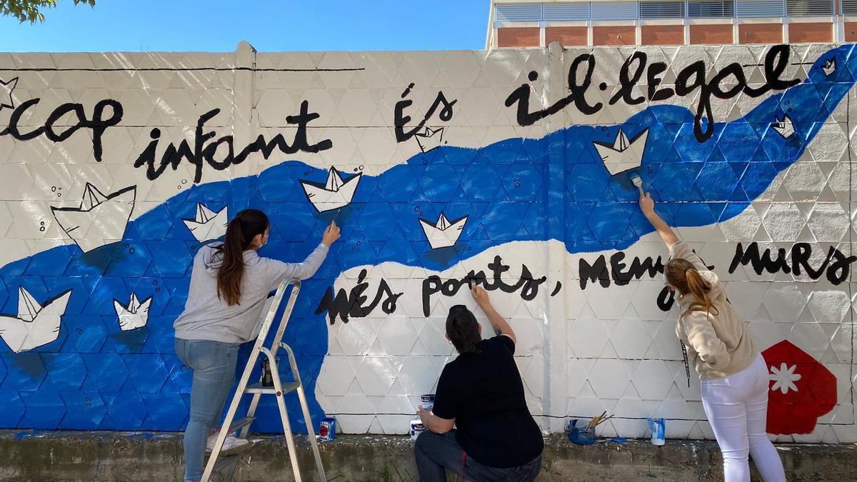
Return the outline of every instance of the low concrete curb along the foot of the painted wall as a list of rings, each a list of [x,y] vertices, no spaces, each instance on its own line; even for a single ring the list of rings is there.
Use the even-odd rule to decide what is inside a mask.
[[[237,480],[291,480],[282,437],[251,437]],[[305,479],[315,464],[298,438]],[[778,445],[789,480],[855,480],[857,444]],[[182,480],[181,433],[0,431],[0,480]],[[336,482],[416,480],[409,437],[339,436],[321,443],[327,477]],[[578,446],[566,437],[546,440],[539,480],[722,480],[716,443],[645,441]],[[758,479],[758,474],[754,480]]]

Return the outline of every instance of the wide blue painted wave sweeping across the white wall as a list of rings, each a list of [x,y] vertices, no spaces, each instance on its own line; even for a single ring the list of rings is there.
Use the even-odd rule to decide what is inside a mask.
[[[189,269],[200,244],[183,225],[196,202],[231,214],[255,207],[273,220],[263,256],[300,260],[334,216],[342,226],[313,280],[304,283],[286,333],[302,367],[315,424],[323,415],[315,379],[327,352],[327,322],[313,311],[327,286],[348,268],[400,262],[444,269],[509,241],[559,239],[569,252],[623,249],[651,232],[637,193],[611,178],[593,141],[612,142],[650,130],[644,182],[664,201],[676,226],[728,220],[756,199],[806,149],[854,84],[854,45],[820,57],[805,82],[770,95],[746,117],[716,124],[697,142],[692,114],[662,105],[621,126],[572,126],[542,139],[508,139],[479,149],[441,147],[380,176],[364,175],[351,206],[317,214],[299,179],[326,172],[285,161],[260,175],[184,190],[129,223],[123,242],[83,254],[57,247],[0,268],[0,306],[17,311],[17,288],[39,300],[71,289],[59,339],[33,352],[0,347],[0,428],[175,431],[186,423],[190,373],[173,350],[172,322],[187,297]],[[826,77],[824,59],[840,66]],[[788,115],[795,134],[783,139],[770,124]],[[469,215],[453,248],[430,250],[418,219]],[[113,298],[153,296],[148,325],[122,332]],[[354,322],[359,322],[356,320]],[[303,420],[289,399],[293,425]],[[273,401],[263,401],[259,431],[279,431]]]

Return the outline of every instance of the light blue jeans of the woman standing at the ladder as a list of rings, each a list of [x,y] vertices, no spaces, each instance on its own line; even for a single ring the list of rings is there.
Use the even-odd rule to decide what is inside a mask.
[[[190,389],[190,419],[184,431],[184,479],[202,478],[208,430],[220,424],[226,396],[235,381],[240,343],[176,339],[176,354],[194,371]]]

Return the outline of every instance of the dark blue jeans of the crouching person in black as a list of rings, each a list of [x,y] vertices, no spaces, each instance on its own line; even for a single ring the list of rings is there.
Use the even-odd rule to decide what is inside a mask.
[[[414,455],[417,456],[417,472],[422,482],[445,482],[446,469],[457,475],[463,475],[465,480],[487,482],[493,480],[509,480],[512,482],[530,482],[542,470],[542,455],[520,467],[494,468],[473,460],[470,455],[464,458],[464,450],[455,439],[455,431],[437,434],[423,431],[414,444]],[[464,473],[462,473],[464,468]]]

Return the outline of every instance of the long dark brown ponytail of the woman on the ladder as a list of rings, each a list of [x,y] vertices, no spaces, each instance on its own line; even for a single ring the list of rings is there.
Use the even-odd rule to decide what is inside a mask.
[[[226,304],[241,304],[241,278],[244,274],[244,251],[253,243],[253,238],[264,234],[268,219],[259,209],[244,209],[226,226],[224,244],[216,249],[223,253],[223,264],[217,274],[217,297]]]

